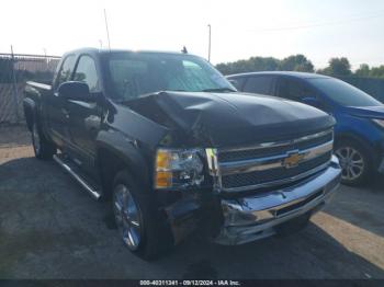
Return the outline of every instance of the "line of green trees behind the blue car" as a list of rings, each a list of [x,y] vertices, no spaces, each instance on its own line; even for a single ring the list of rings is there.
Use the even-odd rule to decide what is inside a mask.
[[[302,71],[317,72],[334,77],[365,77],[384,79],[384,65],[370,67],[366,64],[360,65],[354,72],[346,57],[331,58],[324,69],[315,70],[313,62],[304,55],[292,55],[284,59],[273,57],[251,57],[247,60],[217,64],[216,68],[223,74],[253,72],[253,71]]]

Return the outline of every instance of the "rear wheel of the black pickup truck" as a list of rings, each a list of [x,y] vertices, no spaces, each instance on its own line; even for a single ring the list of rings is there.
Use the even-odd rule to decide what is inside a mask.
[[[31,133],[35,157],[39,160],[50,160],[56,153],[56,147],[43,136],[36,120],[32,124]]]

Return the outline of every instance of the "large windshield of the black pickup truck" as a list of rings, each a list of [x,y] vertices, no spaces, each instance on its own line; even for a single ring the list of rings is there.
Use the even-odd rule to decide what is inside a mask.
[[[115,100],[158,91],[229,91],[235,88],[207,61],[192,55],[106,54],[106,79]]]

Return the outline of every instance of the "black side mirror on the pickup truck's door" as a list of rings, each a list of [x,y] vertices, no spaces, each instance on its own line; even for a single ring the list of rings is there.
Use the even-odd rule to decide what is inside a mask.
[[[72,101],[93,102],[94,96],[89,92],[89,87],[84,82],[64,82],[58,88],[58,95]]]

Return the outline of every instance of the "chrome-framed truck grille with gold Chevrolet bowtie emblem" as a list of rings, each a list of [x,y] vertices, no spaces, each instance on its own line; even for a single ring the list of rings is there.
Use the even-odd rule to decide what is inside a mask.
[[[332,153],[332,129],[252,147],[211,150],[216,187],[238,192],[298,181],[325,169]],[[207,152],[208,156],[208,152]]]

